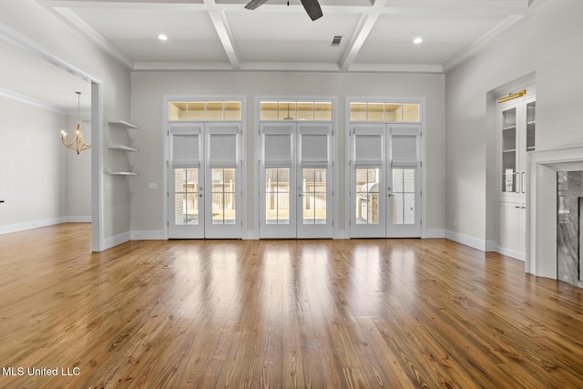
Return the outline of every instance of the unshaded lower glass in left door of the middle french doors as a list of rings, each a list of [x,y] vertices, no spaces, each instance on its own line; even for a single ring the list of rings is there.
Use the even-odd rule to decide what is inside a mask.
[[[290,169],[265,169],[265,223],[290,224]]]

